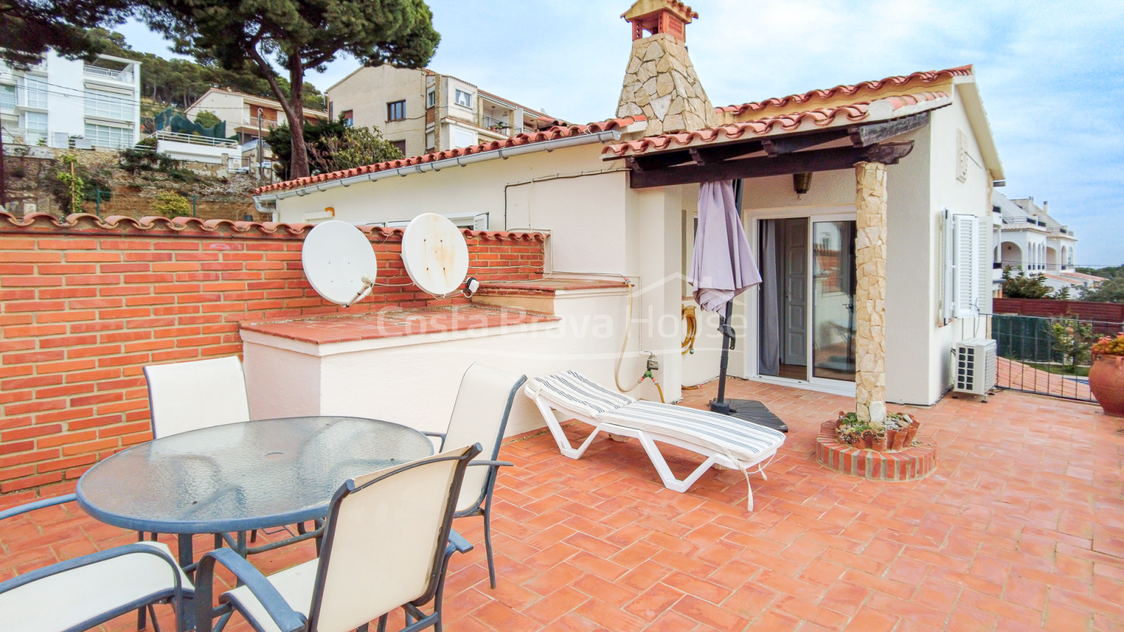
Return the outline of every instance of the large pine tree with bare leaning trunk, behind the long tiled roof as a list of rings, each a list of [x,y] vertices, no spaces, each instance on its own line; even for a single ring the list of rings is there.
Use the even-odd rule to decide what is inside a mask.
[[[152,0],[146,21],[200,63],[264,78],[289,120],[290,178],[309,174],[305,73],[341,53],[365,65],[423,67],[441,36],[422,0]],[[275,66],[274,66],[275,64]],[[289,75],[288,91],[281,75]]]

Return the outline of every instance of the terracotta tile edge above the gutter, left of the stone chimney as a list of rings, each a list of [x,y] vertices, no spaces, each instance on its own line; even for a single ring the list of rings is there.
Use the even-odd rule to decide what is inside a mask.
[[[543,129],[541,132],[516,134],[515,136],[511,136],[509,138],[504,138],[502,141],[489,141],[487,143],[481,143],[479,145],[473,145],[471,147],[460,147],[455,150],[432,152],[428,154],[423,154],[420,156],[391,160],[387,162],[380,162],[377,164],[368,164],[354,169],[346,169],[343,171],[333,171],[330,173],[318,173],[316,175],[309,175],[307,178],[298,178],[297,180],[287,180],[284,182],[277,182],[274,184],[268,184],[265,187],[260,187],[255,189],[254,195],[259,196],[262,193],[268,193],[270,191],[296,189],[308,184],[327,182],[329,180],[350,178],[352,175],[363,175],[366,173],[386,171],[388,169],[400,169],[402,166],[413,166],[416,164],[436,162],[438,160],[454,159],[471,154],[479,154],[483,152],[493,152],[496,150],[517,147],[520,145],[529,145],[532,143],[541,143],[543,141],[553,141],[556,138],[580,136],[582,134],[597,134],[598,132],[607,132],[609,129],[618,129],[620,127],[627,127],[633,123],[637,123],[641,120],[647,120],[647,119],[643,115],[637,115],[633,117],[610,118],[608,120],[600,120],[587,125],[555,125],[553,127]]]

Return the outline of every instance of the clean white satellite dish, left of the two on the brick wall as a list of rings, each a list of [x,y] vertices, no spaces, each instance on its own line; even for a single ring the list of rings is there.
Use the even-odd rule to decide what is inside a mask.
[[[300,249],[300,262],[316,294],[344,307],[371,294],[379,273],[366,235],[338,219],[312,228]]]

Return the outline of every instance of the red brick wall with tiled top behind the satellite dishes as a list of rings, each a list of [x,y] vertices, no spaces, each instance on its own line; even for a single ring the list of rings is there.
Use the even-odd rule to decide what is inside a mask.
[[[238,354],[242,320],[343,313],[303,278],[310,228],[0,213],[0,495],[72,486],[98,459],[147,441],[145,364]],[[401,231],[369,236],[379,282],[408,283]],[[542,274],[542,235],[465,238],[482,281]],[[377,287],[347,313],[465,301]]]

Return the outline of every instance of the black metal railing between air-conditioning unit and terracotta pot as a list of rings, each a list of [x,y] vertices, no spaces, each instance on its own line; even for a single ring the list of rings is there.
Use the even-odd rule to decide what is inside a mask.
[[[1096,401],[1089,391],[1089,347],[1100,336],[1120,331],[1121,323],[996,314],[991,319],[998,355],[996,386]]]

